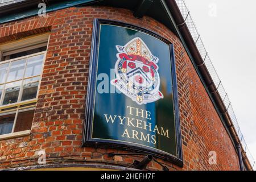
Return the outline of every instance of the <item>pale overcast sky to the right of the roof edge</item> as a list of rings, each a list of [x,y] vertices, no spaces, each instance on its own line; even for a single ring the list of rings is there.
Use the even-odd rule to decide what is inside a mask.
[[[185,3],[256,160],[256,1],[185,0]]]

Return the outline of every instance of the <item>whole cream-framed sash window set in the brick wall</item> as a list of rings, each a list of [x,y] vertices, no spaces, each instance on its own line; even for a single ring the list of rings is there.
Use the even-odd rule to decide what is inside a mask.
[[[48,35],[0,44],[0,138],[31,129]]]

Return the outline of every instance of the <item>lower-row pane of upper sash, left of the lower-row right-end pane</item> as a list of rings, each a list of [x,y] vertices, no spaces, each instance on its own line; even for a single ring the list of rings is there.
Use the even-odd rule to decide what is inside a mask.
[[[18,101],[21,81],[11,82],[6,84],[5,97],[3,98],[3,105],[12,104]]]

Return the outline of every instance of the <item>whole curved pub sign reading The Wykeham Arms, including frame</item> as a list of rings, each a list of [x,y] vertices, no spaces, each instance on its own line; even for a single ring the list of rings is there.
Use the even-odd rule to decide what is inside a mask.
[[[84,146],[182,160],[172,43],[151,31],[94,19]]]

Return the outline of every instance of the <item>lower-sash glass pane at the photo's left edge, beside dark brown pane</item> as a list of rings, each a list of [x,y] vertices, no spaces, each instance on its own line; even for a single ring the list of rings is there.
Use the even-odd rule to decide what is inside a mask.
[[[0,116],[0,135],[9,134],[13,129],[15,114]]]

